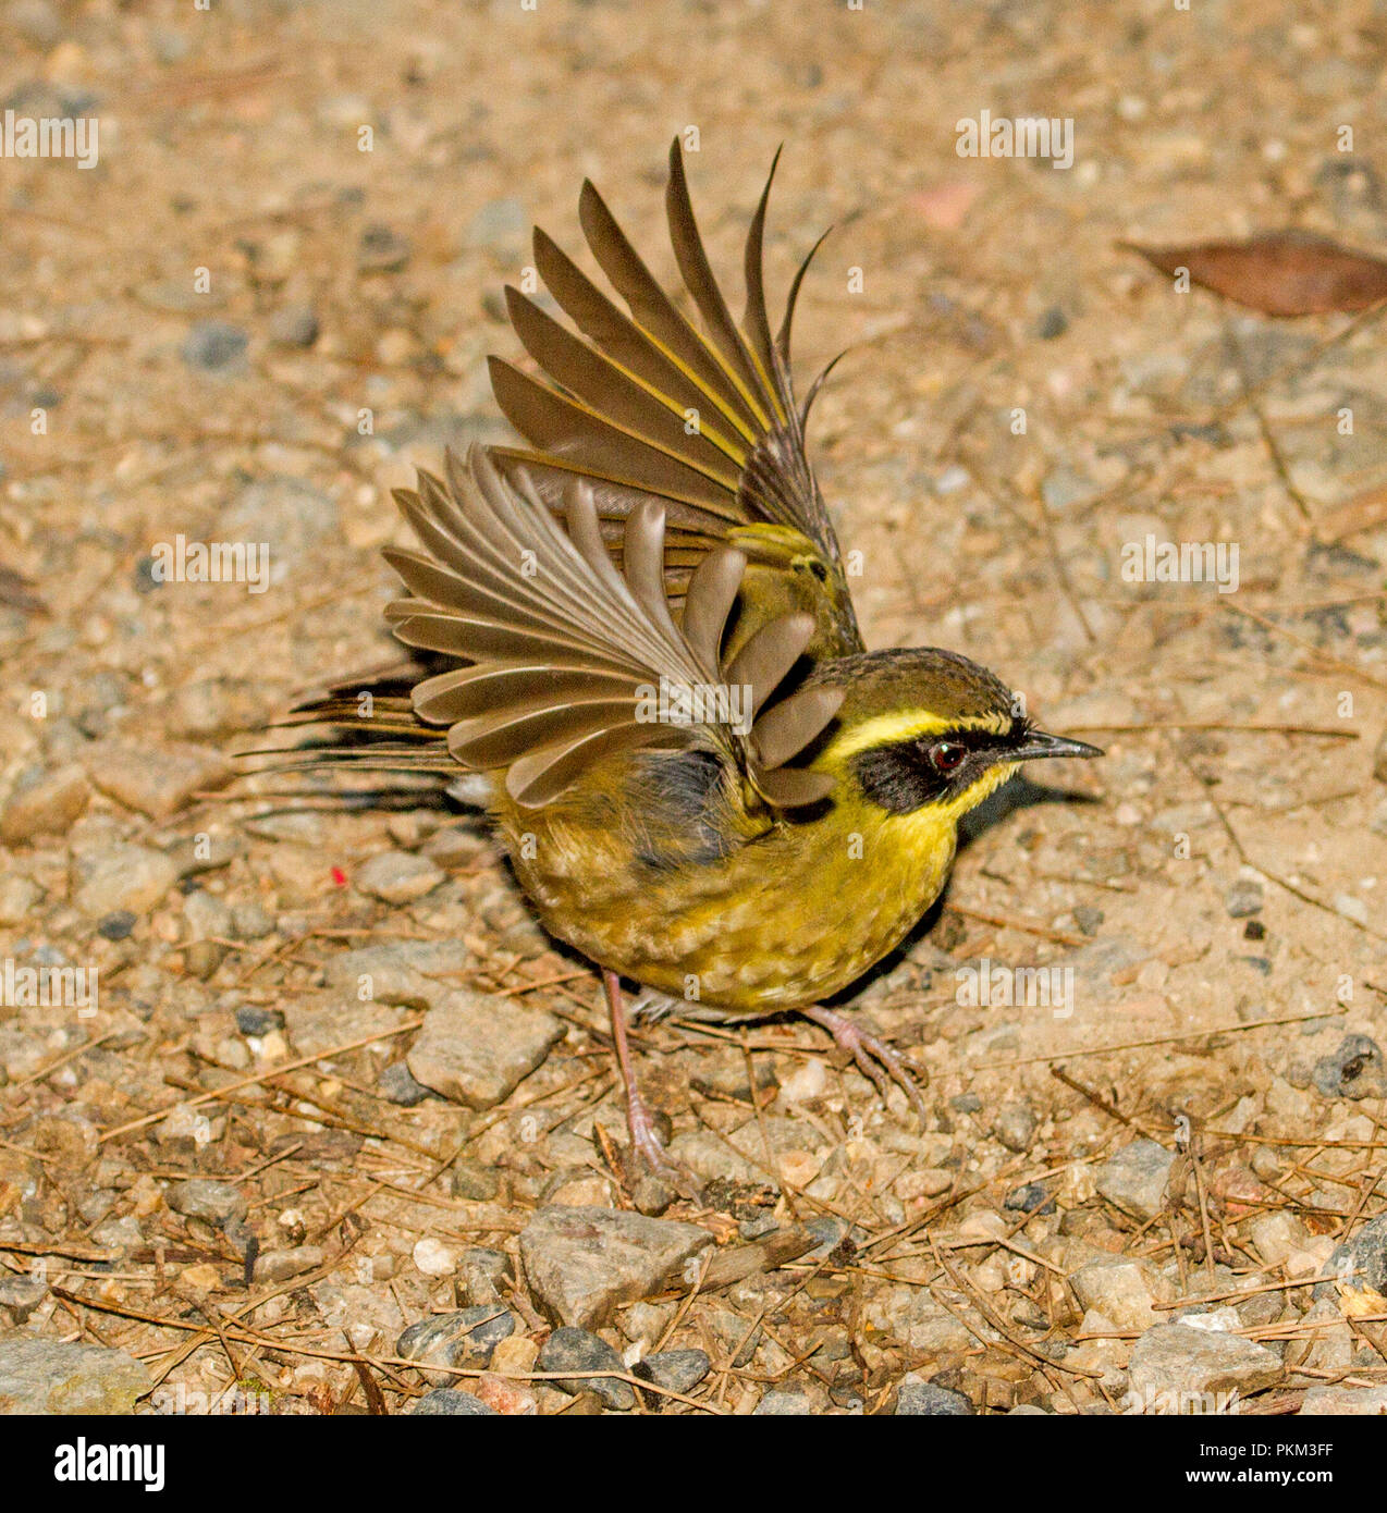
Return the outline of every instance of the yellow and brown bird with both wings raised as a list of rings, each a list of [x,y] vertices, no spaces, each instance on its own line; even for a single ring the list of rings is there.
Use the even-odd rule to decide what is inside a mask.
[[[505,289],[532,371],[489,360],[522,445],[449,451],[442,475],[395,492],[417,546],[384,549],[404,586],[386,619],[413,661],[337,679],[287,722],[334,729],[315,763],[476,775],[540,923],[600,971],[629,1156],[655,1174],[676,1163],[640,1091],[623,982],[652,1014],[803,1015],[924,1115],[894,1047],[827,1000],[935,903],[965,814],[1024,763],[1103,755],[1038,729],[959,652],[867,649],[805,439],[829,369],[803,399],[791,377],[823,238],[770,328],[779,157],[740,319],[678,138],[681,294],[591,182],[579,222],[610,292],[535,230],[551,309]]]

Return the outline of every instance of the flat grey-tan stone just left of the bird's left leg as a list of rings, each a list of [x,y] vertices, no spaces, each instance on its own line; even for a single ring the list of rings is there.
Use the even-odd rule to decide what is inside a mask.
[[[564,1036],[561,1020],[514,999],[455,990],[431,1009],[408,1055],[425,1088],[469,1109],[492,1109]]]

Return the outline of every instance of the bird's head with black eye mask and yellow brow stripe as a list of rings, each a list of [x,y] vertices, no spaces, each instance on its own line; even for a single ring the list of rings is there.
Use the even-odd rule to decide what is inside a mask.
[[[812,766],[882,819],[954,825],[1024,761],[1103,755],[1032,726],[1010,688],[954,652],[864,652],[832,678],[847,691]]]

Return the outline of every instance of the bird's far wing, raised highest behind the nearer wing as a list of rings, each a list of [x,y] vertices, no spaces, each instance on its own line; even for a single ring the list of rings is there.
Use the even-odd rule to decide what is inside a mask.
[[[862,638],[805,451],[805,422],[823,375],[799,402],[790,372],[794,303],[814,253],[771,336],[762,278],[770,183],[747,231],[740,322],[703,250],[678,139],[666,209],[697,325],[650,274],[591,183],[579,198],[582,231],[625,310],[535,230],[535,266],[576,330],[507,289],[511,324],[543,377],[490,360],[496,402],[534,448],[493,448],[493,457],[508,477],[523,469],[555,510],[569,481],[582,478],[617,558],[623,522],[643,499],[659,498],[666,586],[676,607],[703,557],[731,543],[749,558],[753,578],[777,579],[758,584],[749,596],[753,610],[802,608],[815,619],[811,655],[849,655],[862,649]]]

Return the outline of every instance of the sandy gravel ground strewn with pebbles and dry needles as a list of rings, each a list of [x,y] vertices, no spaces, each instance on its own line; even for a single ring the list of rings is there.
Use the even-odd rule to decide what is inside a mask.
[[[100,160],[0,174],[45,605],[0,607],[0,1410],[1384,1410],[1381,327],[1118,247],[1387,244],[1351,9],[8,8],[0,103]],[[960,157],[982,110],[1072,166]],[[797,362],[850,346],[811,442],[870,645],[1107,758],[994,803],[853,999],[926,1127],[803,1021],[637,1033],[708,1180],[666,1207],[484,826],[231,753],[390,660],[389,490],[505,434],[531,222],[591,174],[669,272],[690,127],[720,265],[777,142],[771,289],[836,224]],[[1236,592],[1128,581],[1148,536]]]

